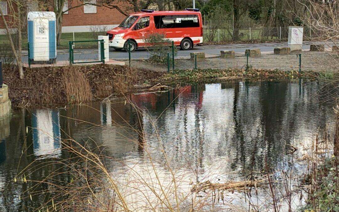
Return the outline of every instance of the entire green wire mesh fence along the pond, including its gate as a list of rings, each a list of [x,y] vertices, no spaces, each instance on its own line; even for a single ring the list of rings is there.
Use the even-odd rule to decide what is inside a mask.
[[[277,34],[277,29],[272,28],[270,32],[261,31],[258,36],[262,36],[262,33],[268,36],[280,36],[280,28],[279,34]],[[287,34],[287,32],[285,33]],[[53,42],[26,43],[22,49],[22,61],[24,66],[31,65],[31,67],[41,66],[42,63],[47,65],[68,65],[72,63],[102,62],[103,54],[99,48],[100,41],[70,41],[71,46],[69,43],[68,46],[56,46],[56,43]],[[213,54],[201,54],[195,49],[191,51],[179,51],[177,46],[172,48],[171,42],[162,42],[161,44],[152,43],[152,46],[145,42],[138,42],[138,46],[136,46],[138,49],[129,52],[126,40],[116,39],[115,41],[117,43],[116,46],[112,42],[109,42],[111,44],[108,53],[110,64],[119,62],[119,64],[129,65],[132,68],[143,68],[155,71],[192,70],[195,68],[220,70],[252,68],[297,71],[299,70],[299,66],[301,66],[302,71],[338,71],[339,67],[338,52],[334,50],[332,52],[303,51],[301,52],[301,56],[299,55],[300,53],[278,55],[273,54],[273,52],[262,52],[257,56],[246,56],[244,52],[224,55],[222,54],[222,49],[220,49],[220,53]],[[130,45],[132,45],[132,43],[133,42],[131,42]],[[3,61],[3,64],[15,63],[15,58],[8,41],[0,40],[0,46],[0,59]],[[107,55],[105,56],[107,57]]]

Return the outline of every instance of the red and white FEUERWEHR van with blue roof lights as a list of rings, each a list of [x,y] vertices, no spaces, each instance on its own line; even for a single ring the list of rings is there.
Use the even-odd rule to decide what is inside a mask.
[[[109,30],[109,46],[116,50],[131,51],[146,47],[152,34],[161,34],[166,40],[174,41],[181,50],[190,50],[194,45],[202,43],[202,20],[199,9],[186,11],[153,11],[142,9],[132,13],[118,26]]]

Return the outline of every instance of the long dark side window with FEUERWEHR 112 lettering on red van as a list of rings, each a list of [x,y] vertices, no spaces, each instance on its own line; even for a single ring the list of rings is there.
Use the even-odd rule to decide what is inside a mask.
[[[157,29],[200,26],[199,17],[197,15],[154,16],[154,23]]]

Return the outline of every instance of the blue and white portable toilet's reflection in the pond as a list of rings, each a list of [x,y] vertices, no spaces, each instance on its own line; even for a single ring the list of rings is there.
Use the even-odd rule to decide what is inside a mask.
[[[58,157],[61,155],[59,112],[37,110],[32,114],[34,155]]]

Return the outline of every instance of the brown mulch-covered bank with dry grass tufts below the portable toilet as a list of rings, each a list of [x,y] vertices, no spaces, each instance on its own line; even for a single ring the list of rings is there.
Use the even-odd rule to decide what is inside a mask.
[[[163,73],[127,66],[81,65],[24,68],[24,79],[15,67],[4,67],[3,80],[13,105],[34,107],[88,102],[109,95],[133,92],[134,85],[152,83]]]

